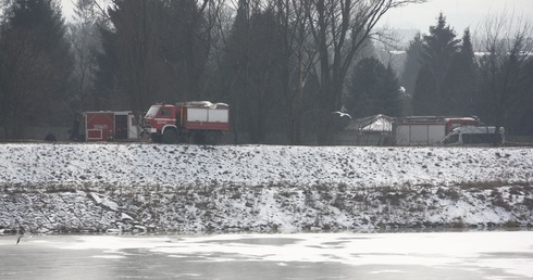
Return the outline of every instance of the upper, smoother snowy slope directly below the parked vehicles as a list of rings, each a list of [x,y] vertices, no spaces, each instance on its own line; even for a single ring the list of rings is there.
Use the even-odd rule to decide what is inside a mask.
[[[0,184],[441,186],[533,180],[533,150],[2,144],[0,169]]]

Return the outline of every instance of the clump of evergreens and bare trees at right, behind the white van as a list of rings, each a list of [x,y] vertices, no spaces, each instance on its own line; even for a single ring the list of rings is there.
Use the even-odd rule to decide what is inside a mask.
[[[508,16],[488,17],[462,38],[441,13],[427,35],[409,43],[401,84],[414,115],[480,117],[513,135],[533,135],[533,29]]]

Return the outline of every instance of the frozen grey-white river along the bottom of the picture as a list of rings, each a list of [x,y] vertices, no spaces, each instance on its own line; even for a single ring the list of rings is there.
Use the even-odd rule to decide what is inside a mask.
[[[0,236],[0,279],[533,279],[533,231]]]

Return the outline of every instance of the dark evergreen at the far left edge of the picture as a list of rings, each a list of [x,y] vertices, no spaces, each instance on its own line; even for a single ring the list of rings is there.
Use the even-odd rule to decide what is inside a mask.
[[[73,60],[60,7],[16,0],[4,11],[0,42],[0,119],[8,137],[28,124],[65,125]],[[24,125],[23,125],[24,124]]]

